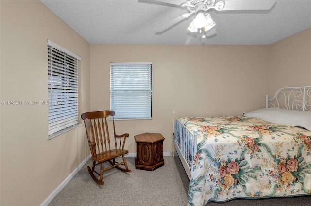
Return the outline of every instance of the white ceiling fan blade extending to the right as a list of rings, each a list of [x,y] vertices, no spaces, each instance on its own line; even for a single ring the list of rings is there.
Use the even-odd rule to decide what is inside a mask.
[[[222,2],[222,1],[221,1]],[[276,1],[274,0],[225,0],[224,8],[218,11],[229,10],[269,10]],[[215,8],[217,10],[217,8]]]

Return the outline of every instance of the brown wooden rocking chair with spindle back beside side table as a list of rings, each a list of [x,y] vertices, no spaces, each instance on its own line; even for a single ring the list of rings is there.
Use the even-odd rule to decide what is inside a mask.
[[[114,122],[115,112],[111,110],[86,112],[81,115],[86,126],[86,136],[91,150],[93,166],[88,168],[88,172],[94,181],[100,185],[104,185],[103,172],[112,168],[117,168],[124,172],[131,172],[127,167],[124,157],[128,150],[124,149],[126,137],[128,133],[117,135]],[[112,125],[114,130],[114,148],[110,147],[110,136],[107,118],[112,116]],[[117,157],[122,156],[122,162],[116,162]],[[104,168],[104,162],[109,162],[111,166]],[[101,164],[100,173],[95,171],[95,166]],[[124,167],[120,167],[123,165]],[[97,178],[95,175],[99,176]]]

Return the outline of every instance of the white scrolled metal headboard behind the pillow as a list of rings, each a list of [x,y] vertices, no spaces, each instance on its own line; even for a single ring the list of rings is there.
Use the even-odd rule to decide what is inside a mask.
[[[266,108],[268,107],[311,111],[311,86],[283,87],[277,90],[273,98],[266,95]]]

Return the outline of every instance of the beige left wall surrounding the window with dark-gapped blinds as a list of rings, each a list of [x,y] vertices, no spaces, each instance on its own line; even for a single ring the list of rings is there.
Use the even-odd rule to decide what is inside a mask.
[[[47,39],[81,56],[88,111],[89,44],[39,1],[0,1],[1,101],[47,101]],[[48,140],[47,105],[1,106],[0,205],[40,205],[89,155],[84,126]]]

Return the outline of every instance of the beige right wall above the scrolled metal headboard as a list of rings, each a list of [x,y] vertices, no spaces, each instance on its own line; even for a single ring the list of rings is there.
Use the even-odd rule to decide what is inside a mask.
[[[311,85],[311,29],[269,47],[269,96],[281,87]]]

